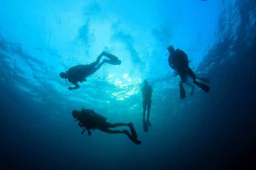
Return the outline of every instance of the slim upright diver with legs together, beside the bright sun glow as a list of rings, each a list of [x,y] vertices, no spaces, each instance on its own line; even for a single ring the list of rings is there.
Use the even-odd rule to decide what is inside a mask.
[[[150,85],[148,85],[147,80],[144,80],[143,83],[144,85],[141,88],[141,94],[143,98],[143,130],[147,132],[148,126],[151,127],[149,118],[150,118],[150,108],[151,108],[151,102],[152,102],[151,96],[152,96],[153,89]],[[147,110],[147,119],[145,121],[146,110]]]

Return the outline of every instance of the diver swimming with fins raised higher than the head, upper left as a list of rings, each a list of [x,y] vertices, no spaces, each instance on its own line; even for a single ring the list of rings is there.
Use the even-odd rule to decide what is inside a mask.
[[[103,59],[100,62],[102,56],[106,56],[109,59]],[[85,82],[86,78],[93,73],[95,73],[104,63],[109,63],[112,65],[120,65],[121,60],[116,56],[109,54],[107,52],[101,52],[100,56],[97,57],[97,60],[91,64],[86,65],[76,65],[68,69],[66,72],[60,72],[60,77],[68,79],[75,87],[68,87],[69,90],[80,88],[77,82]]]

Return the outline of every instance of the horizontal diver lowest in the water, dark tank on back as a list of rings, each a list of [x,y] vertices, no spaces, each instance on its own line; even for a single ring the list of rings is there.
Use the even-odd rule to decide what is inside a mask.
[[[133,127],[132,122],[111,124],[106,121],[107,118],[105,118],[104,116],[96,113],[91,109],[85,109],[85,108],[82,108],[81,111],[73,110],[72,115],[73,115],[73,118],[75,118],[75,121],[79,121],[78,125],[84,128],[81,134],[83,134],[83,132],[86,130],[88,131],[88,135],[91,136],[90,129],[92,130],[98,129],[100,131],[103,131],[109,134],[126,134],[130,138],[130,140],[133,141],[135,144],[138,144],[138,145],[141,144],[141,141],[137,139],[137,133]],[[125,130],[125,129],[123,129],[122,131],[109,129],[109,128],[119,127],[119,126],[130,127],[131,134],[128,130]]]

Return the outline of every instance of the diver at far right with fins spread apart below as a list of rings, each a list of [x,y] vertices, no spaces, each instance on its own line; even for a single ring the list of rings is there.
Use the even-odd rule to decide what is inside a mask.
[[[169,46],[167,50],[169,51],[169,53],[167,53],[169,54],[169,57],[168,57],[169,65],[174,71],[177,72],[177,74],[180,75],[180,78],[181,78],[181,81],[179,84],[180,98],[181,99],[186,98],[186,92],[183,87],[183,83],[187,82],[187,78],[186,78],[187,76],[190,76],[190,78],[193,79],[193,83],[197,85],[199,88],[201,88],[203,91],[209,92],[210,90],[209,86],[203,83],[197,82],[196,79],[199,79],[202,82],[206,82],[206,83],[209,83],[210,80],[208,78],[196,77],[195,73],[189,67],[188,56],[186,55],[186,53],[180,49],[174,50],[173,46]]]

